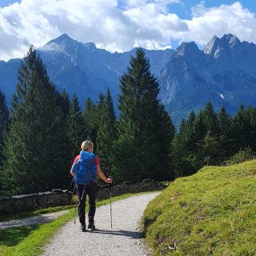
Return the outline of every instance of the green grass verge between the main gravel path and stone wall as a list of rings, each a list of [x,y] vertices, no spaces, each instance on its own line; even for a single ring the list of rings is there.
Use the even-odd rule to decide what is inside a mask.
[[[125,194],[112,197],[112,201],[121,200],[133,195],[145,194]],[[110,203],[110,199],[97,201],[97,207]],[[86,205],[87,208],[88,204]],[[48,208],[37,211],[37,214],[55,211],[57,208]],[[59,207],[60,210],[64,206]],[[0,255],[1,256],[34,256],[42,252],[42,247],[50,241],[55,233],[70,219],[74,217],[75,209],[72,208],[67,214],[59,217],[53,222],[41,225],[13,227],[0,230]],[[36,212],[34,212],[36,214]],[[31,215],[30,215],[31,216]],[[77,217],[78,220],[78,217]]]

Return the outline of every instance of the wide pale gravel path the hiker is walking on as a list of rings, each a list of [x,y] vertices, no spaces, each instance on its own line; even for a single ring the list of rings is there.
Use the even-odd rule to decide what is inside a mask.
[[[80,224],[70,221],[45,247],[43,256],[142,256],[148,255],[141,244],[138,222],[147,204],[159,192],[136,195],[112,203],[113,228],[110,227],[110,205],[97,208],[97,230],[82,232]]]

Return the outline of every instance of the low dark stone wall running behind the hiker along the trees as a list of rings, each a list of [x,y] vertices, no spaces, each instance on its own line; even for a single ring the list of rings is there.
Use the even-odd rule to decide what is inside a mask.
[[[124,184],[111,187],[112,196],[127,193],[149,192],[165,189],[165,185],[151,179],[132,184],[127,181]],[[12,197],[0,197],[0,214],[17,213],[20,211],[34,211],[40,208],[53,206],[65,206],[71,203],[72,192],[69,190],[53,189],[52,192],[34,193],[30,195],[14,195]],[[97,200],[110,197],[109,187],[99,187]]]

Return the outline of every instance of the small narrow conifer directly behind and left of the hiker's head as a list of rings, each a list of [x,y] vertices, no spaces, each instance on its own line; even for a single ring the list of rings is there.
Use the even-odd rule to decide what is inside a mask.
[[[85,136],[84,120],[76,95],[73,96],[67,115],[67,138],[71,148],[72,159],[79,153]]]

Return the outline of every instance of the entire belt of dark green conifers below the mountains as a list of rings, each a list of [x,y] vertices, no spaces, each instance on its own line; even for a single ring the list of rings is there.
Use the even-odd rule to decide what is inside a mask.
[[[81,109],[78,96],[70,99],[56,89],[37,51],[29,48],[10,113],[0,95],[1,195],[69,188],[72,159],[86,139],[94,142],[102,170],[115,184],[172,181],[203,165],[255,154],[256,108],[241,106],[232,117],[224,107],[216,113],[208,102],[176,131],[141,48],[121,76],[120,91],[118,118],[109,89],[97,101],[85,99]]]

